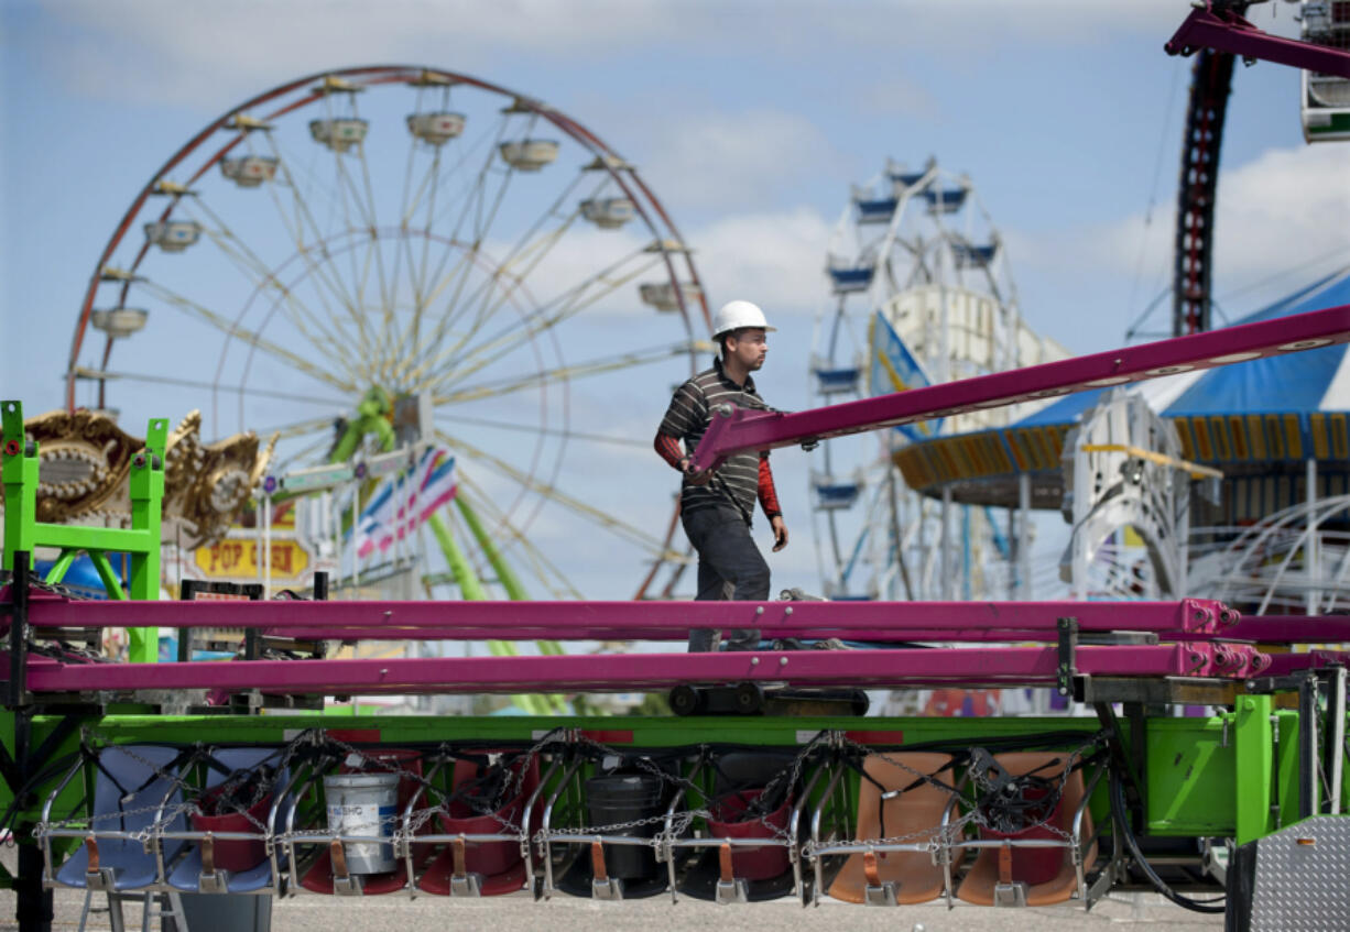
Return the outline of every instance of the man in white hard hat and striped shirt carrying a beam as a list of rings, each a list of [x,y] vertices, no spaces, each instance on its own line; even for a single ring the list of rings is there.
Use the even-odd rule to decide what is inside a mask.
[[[693,472],[690,465],[690,455],[711,421],[713,405],[765,407],[764,399],[755,391],[751,372],[764,366],[768,352],[765,333],[772,329],[764,320],[764,312],[749,301],[722,305],[713,316],[713,341],[718,349],[713,367],[675,391],[656,432],[656,452],[684,475],[680,522],[690,544],[698,550],[695,598],[699,600],[768,599],[768,564],[751,537],[756,499],[774,530],[774,550],[787,546],[787,525],[778,506],[767,452],[737,453],[710,472]],[[759,639],[760,633],[755,630],[726,631],[730,650],[755,650]],[[717,650],[718,641],[718,631],[694,630],[690,631],[688,649]]]

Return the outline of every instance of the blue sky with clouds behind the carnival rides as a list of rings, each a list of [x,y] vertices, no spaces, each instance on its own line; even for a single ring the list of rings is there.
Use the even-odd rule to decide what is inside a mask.
[[[828,299],[825,244],[849,183],[887,156],[919,165],[936,155],[968,173],[1008,244],[1027,321],[1072,351],[1103,349],[1168,282],[1191,62],[1168,58],[1162,43],[1188,9],[1183,0],[11,0],[0,7],[0,340],[9,349],[0,397],[28,411],[61,403],[103,244],[170,152],[274,84],[373,62],[435,65],[521,90],[637,163],[695,247],[711,301],[756,299],[779,325],[759,379],[778,406],[813,403],[806,360]],[[1295,28],[1285,4],[1253,18]],[[1350,147],[1304,146],[1296,71],[1238,69],[1219,204],[1215,291],[1230,316],[1350,255]],[[643,326],[622,322],[614,345],[645,345]],[[632,397],[609,424],[633,434],[655,426],[670,380],[629,376]],[[128,407],[128,429],[163,413]],[[798,531],[775,560],[776,581],[810,585],[806,464],[792,450],[775,463]],[[649,500],[672,476],[636,449],[621,464],[636,496],[622,510],[660,523]],[[579,495],[610,495],[568,468],[582,473]],[[574,533],[564,517],[549,527],[539,526],[541,540]],[[622,573],[595,562],[570,573],[589,595],[622,596],[629,585],[616,576],[630,576],[633,561],[625,556]]]

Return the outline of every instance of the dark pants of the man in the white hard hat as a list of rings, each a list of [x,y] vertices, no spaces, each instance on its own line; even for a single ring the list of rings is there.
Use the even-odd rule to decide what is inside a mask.
[[[764,602],[768,599],[768,564],[760,556],[751,527],[736,508],[699,508],[680,517],[688,542],[698,550],[698,602]],[[688,633],[690,653],[717,650],[721,631],[695,629]],[[759,647],[757,629],[725,633],[729,650]]]

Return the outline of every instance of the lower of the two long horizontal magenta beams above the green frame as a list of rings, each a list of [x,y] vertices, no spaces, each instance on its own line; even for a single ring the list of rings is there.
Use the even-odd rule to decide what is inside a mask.
[[[1081,673],[1096,676],[1242,676],[1257,666],[1250,647],[1220,666],[1212,645],[1080,647]],[[416,660],[61,664],[31,657],[35,693],[143,689],[262,689],[271,693],[571,692],[668,689],[679,684],[786,682],[837,687],[915,687],[961,682],[1053,682],[1056,647],[965,647],[720,654],[602,654]],[[5,665],[0,665],[5,669]]]

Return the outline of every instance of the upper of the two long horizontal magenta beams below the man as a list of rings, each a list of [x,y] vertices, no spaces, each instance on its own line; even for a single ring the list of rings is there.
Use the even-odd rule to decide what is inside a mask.
[[[757,627],[791,635],[919,639],[941,633],[1053,635],[1060,618],[1083,631],[1216,634],[1238,614],[1212,599],[1179,602],[77,602],[34,592],[28,623],[43,627],[255,627],[275,634],[417,631],[436,638],[593,639]],[[313,637],[313,634],[306,634]],[[606,638],[609,639],[609,638]],[[987,638],[981,638],[987,639]]]

